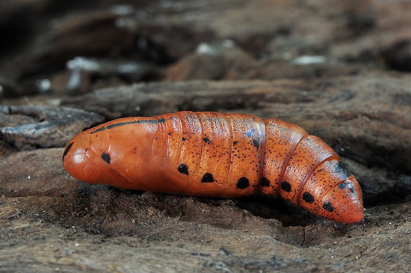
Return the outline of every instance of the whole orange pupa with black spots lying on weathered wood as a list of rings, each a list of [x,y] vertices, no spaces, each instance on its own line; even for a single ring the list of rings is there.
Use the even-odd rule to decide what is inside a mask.
[[[277,119],[215,112],[122,118],[67,145],[88,183],[192,196],[281,196],[335,222],[363,218],[361,188],[320,138]]]

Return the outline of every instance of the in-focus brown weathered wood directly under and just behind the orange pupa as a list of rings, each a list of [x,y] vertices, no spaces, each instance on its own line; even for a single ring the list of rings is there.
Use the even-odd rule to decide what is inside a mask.
[[[411,232],[409,82],[410,77],[368,75],[313,83],[151,83],[68,99],[63,104],[107,118],[211,108],[300,124],[326,139],[359,178],[366,226],[335,228],[270,199],[214,200],[86,185],[65,173],[62,148],[40,149],[0,162],[6,239],[1,263],[10,269],[17,259],[27,268],[49,270],[237,271],[367,270],[385,261],[386,269],[404,270],[409,259],[404,238]],[[144,107],[137,111],[139,105]],[[25,232],[30,236],[23,243],[18,238]],[[27,245],[52,247],[44,254]],[[113,256],[116,248],[133,259]]]

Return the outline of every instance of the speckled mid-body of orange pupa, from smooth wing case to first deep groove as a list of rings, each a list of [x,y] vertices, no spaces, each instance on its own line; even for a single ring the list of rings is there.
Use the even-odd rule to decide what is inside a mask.
[[[258,191],[265,147],[263,119],[215,112],[156,118],[165,122],[159,123],[153,153],[188,176],[192,182],[188,192],[207,189],[204,194],[224,197]]]

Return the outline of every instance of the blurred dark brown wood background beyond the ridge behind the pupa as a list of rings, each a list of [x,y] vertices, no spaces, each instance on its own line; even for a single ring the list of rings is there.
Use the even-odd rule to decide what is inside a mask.
[[[382,0],[1,1],[0,99],[146,81],[409,73],[410,8]]]

